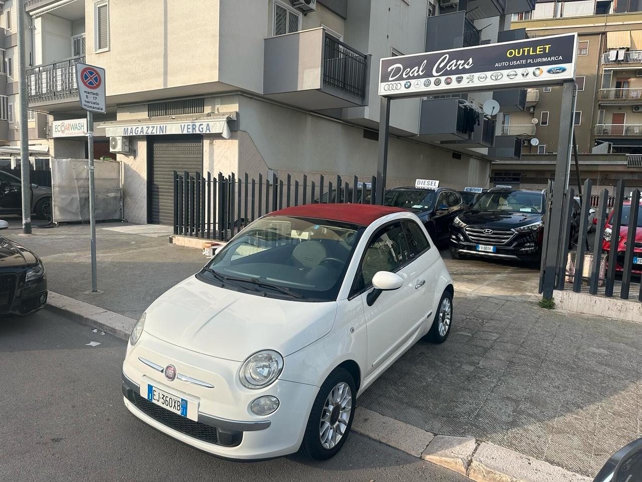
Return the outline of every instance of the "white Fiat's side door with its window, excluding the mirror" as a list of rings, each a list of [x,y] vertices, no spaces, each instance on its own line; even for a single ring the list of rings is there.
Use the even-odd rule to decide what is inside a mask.
[[[401,288],[380,292],[372,301],[372,277],[391,271],[404,280]],[[401,221],[386,224],[370,238],[357,273],[368,334],[368,372],[385,364],[421,328],[426,312],[422,263],[414,262]]]

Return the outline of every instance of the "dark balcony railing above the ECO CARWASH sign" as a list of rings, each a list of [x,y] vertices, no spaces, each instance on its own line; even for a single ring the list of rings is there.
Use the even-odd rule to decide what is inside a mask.
[[[62,62],[27,69],[29,103],[60,102],[77,98],[78,62],[85,62],[85,57],[69,58]]]

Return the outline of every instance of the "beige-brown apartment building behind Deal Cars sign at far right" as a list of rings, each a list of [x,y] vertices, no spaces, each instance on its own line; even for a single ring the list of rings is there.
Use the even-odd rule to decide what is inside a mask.
[[[642,185],[642,12],[623,2],[538,1],[514,15],[529,37],[578,33],[574,113],[580,177],[611,188],[616,179]],[[640,4],[642,7],[642,4]],[[522,139],[519,162],[498,160],[492,183],[542,188],[552,179],[559,137],[561,87],[529,89],[526,109],[505,112],[501,130]],[[571,168],[571,185],[577,184]]]

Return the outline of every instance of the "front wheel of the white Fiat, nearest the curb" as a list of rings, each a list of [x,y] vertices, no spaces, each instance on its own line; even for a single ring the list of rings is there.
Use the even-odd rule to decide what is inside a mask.
[[[356,386],[349,371],[335,368],[328,375],[312,405],[300,452],[327,460],[343,447],[354,418]]]

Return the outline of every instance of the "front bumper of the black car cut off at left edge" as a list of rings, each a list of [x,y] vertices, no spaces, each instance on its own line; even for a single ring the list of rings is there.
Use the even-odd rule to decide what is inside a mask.
[[[26,316],[47,304],[45,277],[26,283],[26,269],[19,272],[0,272],[0,316]]]

